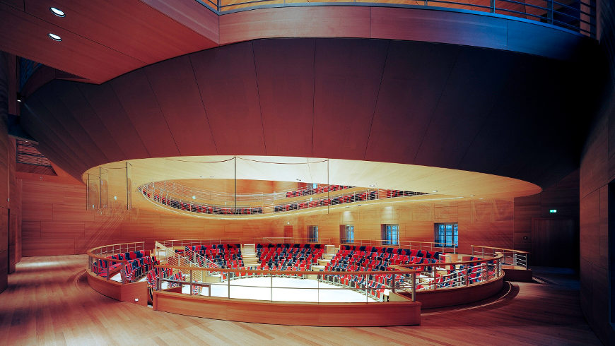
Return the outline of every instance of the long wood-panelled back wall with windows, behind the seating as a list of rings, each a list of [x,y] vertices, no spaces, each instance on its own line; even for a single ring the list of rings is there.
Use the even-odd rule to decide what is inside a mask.
[[[274,190],[286,189],[286,185],[262,184]],[[45,183],[40,181],[24,180],[23,186],[24,197],[30,201],[33,198],[28,193],[38,196],[45,190]],[[362,205],[331,209],[328,213],[323,208],[309,215],[290,213],[271,219],[211,220],[139,209],[99,215],[83,208],[85,187],[82,185],[49,183],[49,191],[64,198],[23,203],[23,246],[28,256],[54,254],[52,249],[57,253],[83,253],[93,246],[122,241],[238,238],[252,242],[254,238],[283,237],[285,227],[292,227],[295,237],[307,237],[310,225],[319,227],[320,239],[333,242],[339,242],[339,225],[354,225],[355,239],[380,239],[381,225],[389,223],[399,225],[400,240],[433,241],[434,222],[458,222],[461,252],[471,251],[472,244],[528,249],[531,243],[528,245],[520,239],[531,234],[532,215],[539,217],[540,213],[535,212],[541,210],[532,204],[540,198],[522,199],[521,210],[517,210],[513,201],[468,199]],[[552,203],[562,196],[559,192],[551,193],[545,199]],[[47,240],[52,249],[45,249]]]

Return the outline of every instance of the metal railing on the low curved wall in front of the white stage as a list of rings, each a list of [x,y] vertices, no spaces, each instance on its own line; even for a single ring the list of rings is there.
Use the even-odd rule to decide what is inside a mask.
[[[220,269],[220,268],[192,268],[185,266],[165,266],[156,268],[172,270],[180,273],[178,278],[158,278],[156,290],[165,290],[170,287],[182,287],[177,293],[201,294],[208,297],[216,296],[233,299],[232,289],[241,287],[242,290],[254,290],[252,297],[257,297],[257,291],[269,290],[270,301],[288,302],[288,296],[276,297],[276,290],[317,290],[316,297],[321,297],[322,290],[353,290],[365,294],[365,302],[385,302],[390,292],[409,294],[411,300],[416,300],[417,292],[435,292],[439,290],[453,290],[459,287],[470,287],[493,282],[503,278],[502,254],[494,257],[475,258],[469,261],[455,261],[446,263],[411,264],[393,266],[396,270],[387,271],[295,271],[295,270],[256,270],[256,269]],[[215,272],[221,275],[220,282],[200,282],[194,277],[209,276],[206,273]],[[233,285],[233,280],[241,278],[266,277],[269,285]],[[312,278],[319,282],[315,287],[288,287],[274,284],[274,278]],[[166,285],[163,285],[166,282]],[[334,287],[320,286],[327,283]],[[380,284],[380,285],[378,285]],[[185,287],[185,288],[184,288]],[[195,289],[196,287],[196,289]],[[216,287],[218,287],[216,289]],[[220,287],[224,289],[221,290]],[[204,288],[206,290],[204,290]],[[226,294],[212,294],[213,291]],[[281,291],[279,291],[281,292]],[[250,296],[250,294],[247,294]],[[306,302],[298,298],[297,302]],[[309,300],[311,301],[311,300]]]

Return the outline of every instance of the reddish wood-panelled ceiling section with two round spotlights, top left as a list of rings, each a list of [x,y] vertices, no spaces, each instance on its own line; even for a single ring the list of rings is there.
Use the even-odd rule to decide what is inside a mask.
[[[197,11],[203,8],[197,1],[175,2],[186,3],[200,25],[189,28],[139,0],[1,0],[0,47],[89,83],[216,47],[218,16]],[[54,16],[50,6],[66,17]],[[49,40],[49,32],[62,42]]]

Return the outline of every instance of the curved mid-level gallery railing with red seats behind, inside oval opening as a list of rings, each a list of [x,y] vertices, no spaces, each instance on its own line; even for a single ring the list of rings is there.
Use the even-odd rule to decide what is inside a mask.
[[[170,189],[168,189],[168,187]],[[156,205],[181,210],[192,215],[260,215],[285,213],[293,210],[328,207],[363,201],[376,201],[383,198],[422,196],[428,193],[414,191],[350,188],[322,191],[310,196],[286,197],[287,192],[274,193],[223,193],[199,189],[180,189],[177,184],[154,181],[139,186],[141,194]],[[310,191],[310,190],[304,190]]]

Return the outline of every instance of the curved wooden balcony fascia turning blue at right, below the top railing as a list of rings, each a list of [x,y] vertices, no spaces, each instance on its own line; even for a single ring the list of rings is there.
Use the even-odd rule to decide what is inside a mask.
[[[316,18],[316,19],[315,19]],[[220,16],[220,42],[272,37],[361,37],[462,44],[576,59],[587,37],[532,20],[386,6],[262,8]]]

